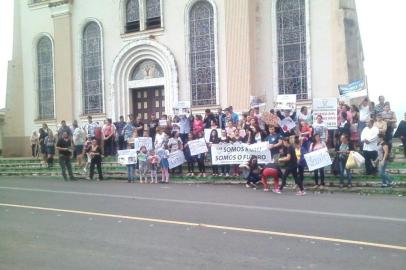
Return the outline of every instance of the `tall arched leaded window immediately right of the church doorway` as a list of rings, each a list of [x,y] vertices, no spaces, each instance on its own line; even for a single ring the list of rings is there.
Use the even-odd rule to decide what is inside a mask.
[[[216,104],[216,55],[214,11],[208,1],[198,1],[190,9],[190,69],[192,105]]]

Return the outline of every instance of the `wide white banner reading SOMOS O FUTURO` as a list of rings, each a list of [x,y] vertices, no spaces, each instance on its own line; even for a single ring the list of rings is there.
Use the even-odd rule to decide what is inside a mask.
[[[211,147],[213,165],[241,164],[249,161],[252,156],[257,156],[258,163],[272,162],[269,143],[221,143],[213,144]]]

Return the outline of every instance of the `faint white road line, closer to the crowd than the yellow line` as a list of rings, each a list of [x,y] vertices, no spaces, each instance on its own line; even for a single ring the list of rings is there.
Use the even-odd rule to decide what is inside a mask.
[[[93,197],[106,197],[106,198],[116,198],[116,199],[132,199],[132,200],[170,202],[170,203],[180,203],[180,204],[220,206],[220,207],[240,208],[240,209],[250,209],[250,210],[263,210],[263,211],[295,213],[295,214],[308,214],[308,215],[316,215],[316,216],[333,216],[333,217],[354,218],[354,219],[371,219],[371,220],[380,220],[380,221],[406,222],[406,218],[397,218],[397,217],[383,217],[383,216],[372,216],[372,215],[361,215],[361,214],[350,214],[350,213],[336,213],[336,212],[333,213],[333,212],[301,210],[301,209],[291,209],[291,208],[243,205],[243,204],[232,204],[232,203],[221,203],[221,202],[165,199],[165,198],[154,198],[154,197],[143,197],[143,196],[116,195],[116,194],[107,194],[107,193],[77,192],[77,191],[37,189],[37,188],[1,187],[1,186],[0,186],[0,190],[45,192],[45,193],[56,193],[56,194],[78,195],[78,196],[93,196]]]

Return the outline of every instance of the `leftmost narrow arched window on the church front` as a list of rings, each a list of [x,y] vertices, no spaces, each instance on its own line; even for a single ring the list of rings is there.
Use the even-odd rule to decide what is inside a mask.
[[[53,119],[54,115],[54,61],[52,41],[42,37],[37,44],[39,119]]]

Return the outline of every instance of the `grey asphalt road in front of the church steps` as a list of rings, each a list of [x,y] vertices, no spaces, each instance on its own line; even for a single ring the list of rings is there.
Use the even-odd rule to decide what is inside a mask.
[[[0,269],[405,269],[406,200],[0,178]]]

